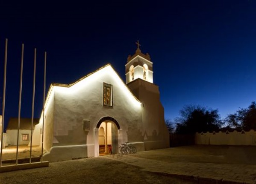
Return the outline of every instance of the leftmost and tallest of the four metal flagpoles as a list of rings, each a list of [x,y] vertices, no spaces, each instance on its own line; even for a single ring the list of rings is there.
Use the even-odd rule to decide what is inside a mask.
[[[2,166],[2,152],[3,152],[3,123],[4,123],[4,109],[5,109],[5,91],[6,91],[6,64],[7,64],[7,45],[8,39],[5,39],[5,54],[4,54],[4,75],[3,75],[3,111],[2,111],[2,132],[1,132],[1,152],[0,152],[0,167]]]

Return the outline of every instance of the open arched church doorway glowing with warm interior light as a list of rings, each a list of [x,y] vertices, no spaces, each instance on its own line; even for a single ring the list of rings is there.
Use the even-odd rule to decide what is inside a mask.
[[[94,134],[95,156],[118,153],[118,130],[120,126],[114,118],[100,119]]]

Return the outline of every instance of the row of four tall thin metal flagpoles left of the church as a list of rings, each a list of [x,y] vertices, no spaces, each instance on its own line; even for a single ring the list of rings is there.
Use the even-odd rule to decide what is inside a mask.
[[[5,55],[4,55],[4,76],[3,76],[3,111],[2,111],[2,132],[1,132],[1,152],[0,152],[0,167],[2,166],[3,158],[3,130],[4,130],[4,113],[5,113],[5,99],[6,99],[6,66],[7,66],[7,47],[8,39],[5,40]],[[17,148],[16,148],[16,162],[18,165],[18,146],[19,146],[19,131],[21,121],[21,93],[22,93],[22,76],[23,76],[23,60],[24,60],[24,44],[21,47],[21,77],[20,77],[20,93],[19,93],[19,109],[18,109],[18,132],[17,132]],[[33,124],[34,124],[34,105],[35,105],[35,69],[36,69],[36,49],[34,52],[34,77],[33,77],[33,95],[32,95],[32,116],[31,116],[31,135],[30,135],[30,155],[29,164],[32,162],[32,138],[33,138]],[[43,98],[43,122],[42,122],[42,142],[41,155],[44,151],[44,104],[45,104],[45,83],[46,83],[46,52],[44,52],[44,98]],[[41,157],[41,162],[43,161]]]

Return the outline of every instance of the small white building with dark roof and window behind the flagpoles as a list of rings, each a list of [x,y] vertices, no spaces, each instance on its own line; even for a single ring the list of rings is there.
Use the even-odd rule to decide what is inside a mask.
[[[38,123],[39,123],[39,118],[34,118],[33,130],[35,129],[35,125]],[[17,145],[17,135],[18,135],[18,118],[9,118],[8,126],[6,128],[7,144]],[[30,137],[31,137],[31,118],[21,118],[18,145],[28,145],[30,143]]]

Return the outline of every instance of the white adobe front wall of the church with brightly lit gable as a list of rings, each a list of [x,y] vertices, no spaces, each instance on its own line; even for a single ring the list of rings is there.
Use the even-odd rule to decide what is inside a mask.
[[[113,85],[113,107],[103,106],[103,82]],[[98,156],[96,125],[106,116],[115,118],[121,127],[118,130],[118,144],[127,140],[143,144],[141,104],[111,66],[106,66],[70,88],[54,86],[53,111],[53,139],[57,141],[50,152],[44,155],[44,160]],[[83,120],[90,120],[89,131],[83,130]]]

